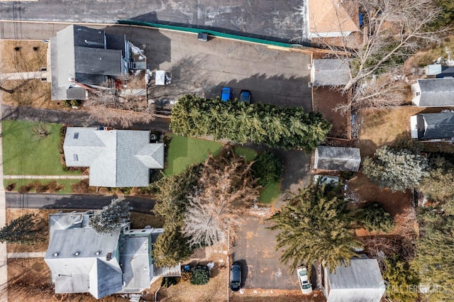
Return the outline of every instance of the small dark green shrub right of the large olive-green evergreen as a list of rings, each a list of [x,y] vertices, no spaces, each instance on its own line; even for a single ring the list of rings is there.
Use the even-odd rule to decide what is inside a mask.
[[[384,210],[381,203],[366,203],[358,215],[358,223],[363,228],[377,232],[390,232],[394,229],[394,219]]]

